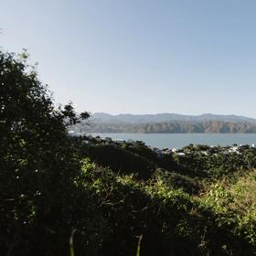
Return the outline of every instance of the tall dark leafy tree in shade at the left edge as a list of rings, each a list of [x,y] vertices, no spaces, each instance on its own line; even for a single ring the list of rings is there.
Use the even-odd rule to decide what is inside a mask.
[[[36,255],[36,248],[47,255],[48,243],[59,239],[63,243],[59,227],[67,223],[59,222],[68,214],[73,178],[80,170],[80,153],[67,127],[89,117],[87,112],[78,116],[71,104],[56,108],[27,59],[27,51],[18,56],[0,51],[0,248],[4,255],[19,249],[24,255]],[[34,244],[24,251],[28,242]]]

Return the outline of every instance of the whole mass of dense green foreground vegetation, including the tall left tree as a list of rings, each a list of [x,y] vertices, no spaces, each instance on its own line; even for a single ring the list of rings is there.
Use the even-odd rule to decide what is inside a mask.
[[[0,52],[1,255],[255,255],[256,151],[71,137],[27,54]],[[207,154],[205,154],[207,152]],[[74,230],[76,232],[74,233]]]

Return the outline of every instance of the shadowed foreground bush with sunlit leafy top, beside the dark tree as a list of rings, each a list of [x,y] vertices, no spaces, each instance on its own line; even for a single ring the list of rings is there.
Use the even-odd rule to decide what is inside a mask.
[[[86,161],[77,184],[94,197],[91,221],[103,223],[104,233],[102,224],[93,231],[101,234],[97,255],[135,255],[140,235],[142,255],[252,255],[252,247],[230,231],[232,226],[161,179],[142,183]]]

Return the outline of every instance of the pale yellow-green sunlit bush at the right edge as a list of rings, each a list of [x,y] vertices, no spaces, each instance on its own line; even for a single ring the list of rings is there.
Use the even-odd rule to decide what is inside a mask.
[[[256,246],[256,172],[240,176],[235,184],[214,184],[204,200],[219,214],[221,222],[234,223],[232,232]]]

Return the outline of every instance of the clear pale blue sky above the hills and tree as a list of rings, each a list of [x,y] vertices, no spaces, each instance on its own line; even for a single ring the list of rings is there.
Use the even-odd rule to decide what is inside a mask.
[[[0,46],[78,112],[256,118],[254,0],[0,0]]]

